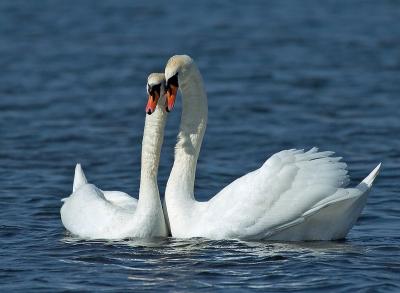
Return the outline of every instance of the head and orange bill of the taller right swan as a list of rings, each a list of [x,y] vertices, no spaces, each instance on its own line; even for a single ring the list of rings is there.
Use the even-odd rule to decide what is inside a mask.
[[[168,60],[165,66],[167,112],[171,111],[174,107],[179,84],[185,72],[188,71],[193,64],[193,59],[188,55],[175,55]]]

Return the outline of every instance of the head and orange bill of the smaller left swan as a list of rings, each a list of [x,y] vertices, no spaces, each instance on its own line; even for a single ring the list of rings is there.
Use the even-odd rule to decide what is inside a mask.
[[[151,73],[147,78],[147,101],[146,113],[151,115],[157,104],[165,105],[165,76],[164,73]]]

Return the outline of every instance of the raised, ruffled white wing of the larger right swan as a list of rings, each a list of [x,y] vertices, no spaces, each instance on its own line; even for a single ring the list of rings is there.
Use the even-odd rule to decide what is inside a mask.
[[[212,238],[264,239],[324,199],[346,196],[347,166],[332,155],[317,148],[274,154],[261,168],[199,203],[196,230]]]

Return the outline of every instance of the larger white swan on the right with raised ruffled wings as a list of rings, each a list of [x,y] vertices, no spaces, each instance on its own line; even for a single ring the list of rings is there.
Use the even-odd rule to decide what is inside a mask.
[[[346,164],[317,148],[284,150],[259,169],[223,188],[206,202],[194,198],[196,164],[207,124],[201,74],[186,55],[165,68],[167,106],[178,89],[182,117],[165,201],[172,236],[245,240],[333,240],[344,238],[363,209],[380,165],[355,188]]]

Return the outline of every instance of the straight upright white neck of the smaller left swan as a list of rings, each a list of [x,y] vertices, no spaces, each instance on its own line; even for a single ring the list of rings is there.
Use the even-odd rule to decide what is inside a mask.
[[[160,202],[157,173],[167,114],[157,106],[152,115],[146,115],[140,173],[139,206]]]

